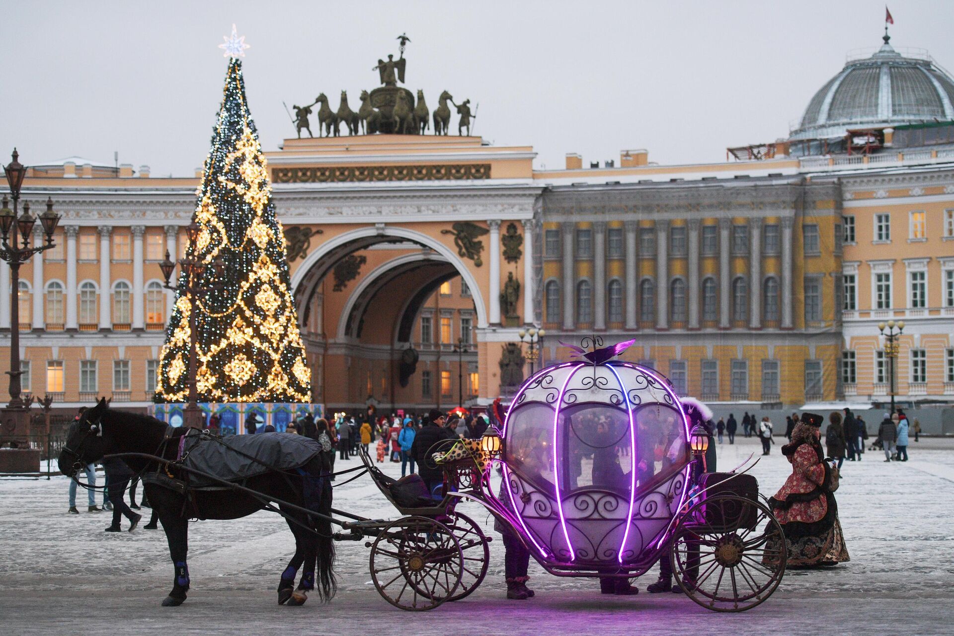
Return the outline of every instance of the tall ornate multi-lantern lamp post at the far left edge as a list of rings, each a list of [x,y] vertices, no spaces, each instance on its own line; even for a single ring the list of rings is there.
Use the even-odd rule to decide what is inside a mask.
[[[17,428],[25,422],[30,409],[31,400],[21,397],[20,376],[20,265],[29,261],[38,253],[53,247],[53,232],[59,223],[59,215],[53,212],[52,198],[47,198],[47,211],[39,217],[43,232],[47,240],[45,244],[30,247],[30,235],[36,218],[30,215],[30,203],[23,204],[23,215],[17,217],[17,208],[20,201],[20,188],[23,186],[23,177],[27,174],[27,167],[18,161],[19,154],[13,149],[13,160],[4,168],[7,174],[7,184],[10,186],[10,196],[13,198],[13,209],[10,210],[10,199],[3,197],[3,208],[0,209],[0,235],[3,236],[0,245],[0,259],[10,265],[10,401],[3,409],[5,422],[13,421]],[[19,244],[18,244],[19,243]],[[39,294],[39,290],[33,290]]]

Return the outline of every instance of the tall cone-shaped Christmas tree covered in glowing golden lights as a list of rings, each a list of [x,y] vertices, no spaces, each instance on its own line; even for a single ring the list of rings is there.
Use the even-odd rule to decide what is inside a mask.
[[[190,313],[196,312],[198,401],[311,401],[311,372],[292,298],[285,240],[233,47],[224,98],[197,190],[199,226],[186,258],[204,265],[195,306],[178,274],[156,401],[188,398]]]

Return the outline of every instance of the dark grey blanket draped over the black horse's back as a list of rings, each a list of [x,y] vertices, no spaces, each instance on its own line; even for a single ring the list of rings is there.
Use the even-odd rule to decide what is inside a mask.
[[[226,482],[241,482],[273,469],[295,470],[321,452],[318,441],[290,433],[233,435],[213,439],[189,431],[179,438],[182,465],[201,473],[215,475]],[[221,485],[196,473],[190,473],[192,486]]]

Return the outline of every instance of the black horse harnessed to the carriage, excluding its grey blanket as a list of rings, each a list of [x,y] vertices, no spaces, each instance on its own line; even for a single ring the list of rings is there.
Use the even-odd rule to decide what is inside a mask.
[[[59,469],[67,477],[75,479],[81,466],[97,462],[104,455],[116,453],[144,453],[163,459],[175,460],[179,437],[187,429],[175,429],[173,437],[166,441],[167,426],[149,416],[137,415],[110,409],[106,400],[99,400],[86,410],[70,426],[66,445],[59,456]],[[209,443],[209,442],[205,442]],[[317,443],[317,442],[316,442]],[[124,461],[136,473],[156,471],[156,461],[129,457]],[[283,474],[268,472],[250,477],[244,485],[260,493],[264,501],[277,500],[292,503],[323,515],[331,514],[331,484],[326,477],[324,454],[301,467],[301,473]],[[165,468],[163,468],[163,471]],[[176,467],[171,467],[176,475]],[[176,477],[178,477],[176,475]],[[318,484],[315,486],[314,484]],[[173,590],[162,605],[181,605],[189,589],[189,567],[186,564],[188,551],[189,519],[239,519],[264,507],[259,499],[238,490],[193,490],[191,501],[172,488],[156,483],[145,483],[146,496],[156,510],[159,522],[169,540],[169,552],[175,566]],[[316,585],[315,570],[318,568],[318,593],[321,600],[334,596],[336,583],[332,566],[335,550],[331,538],[331,524],[326,519],[311,517],[301,511],[280,505],[289,527],[295,535],[295,556],[292,557],[279,582],[279,603],[302,605],[308,590]],[[301,524],[301,525],[300,525]],[[312,528],[314,532],[307,528]],[[295,576],[304,565],[301,581],[295,589]],[[293,591],[294,590],[294,591]]]

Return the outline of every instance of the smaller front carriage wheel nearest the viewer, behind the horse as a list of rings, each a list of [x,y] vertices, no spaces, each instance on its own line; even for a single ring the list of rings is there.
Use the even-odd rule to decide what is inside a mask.
[[[444,523],[404,517],[371,544],[371,580],[384,600],[409,611],[433,609],[461,585],[461,544]]]

